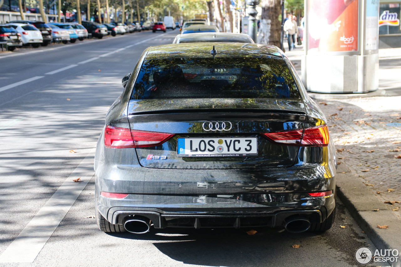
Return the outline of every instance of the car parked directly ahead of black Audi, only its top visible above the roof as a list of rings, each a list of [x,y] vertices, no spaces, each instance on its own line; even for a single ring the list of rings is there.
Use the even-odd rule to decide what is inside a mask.
[[[247,42],[253,44],[252,38],[248,34],[231,32],[202,32],[178,34],[173,44],[187,42]]]

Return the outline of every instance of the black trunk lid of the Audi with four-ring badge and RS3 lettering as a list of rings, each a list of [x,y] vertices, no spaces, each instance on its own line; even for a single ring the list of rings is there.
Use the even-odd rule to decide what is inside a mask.
[[[173,133],[163,144],[136,148],[141,166],[178,169],[277,168],[294,164],[299,146],[274,144],[260,134],[304,127],[306,112],[302,99],[144,99],[130,100],[128,120],[132,130]],[[225,130],[209,130],[211,122],[226,122]],[[228,127],[228,125],[231,127]],[[206,126],[206,127],[205,127]],[[221,128],[221,127],[220,127]],[[184,138],[191,138],[185,141]],[[192,139],[197,138],[197,139]],[[221,144],[229,156],[178,155],[178,142],[204,139]],[[253,140],[257,155],[238,154],[231,142]],[[181,141],[180,141],[181,140]],[[231,141],[231,142],[230,142]],[[231,143],[231,144],[230,144]],[[189,144],[189,143],[188,143]],[[226,145],[225,145],[226,144]],[[239,144],[242,144],[241,146]],[[180,143],[180,146],[182,143]],[[228,146],[229,145],[229,146]],[[193,144],[195,150],[196,144]],[[203,149],[199,145],[199,150]],[[211,147],[209,147],[211,149]],[[245,148],[245,146],[244,146]],[[217,149],[217,148],[216,148]],[[254,151],[253,146],[251,152]],[[198,153],[200,151],[198,150]],[[227,151],[229,150],[229,151]],[[241,152],[244,152],[241,150]],[[213,152],[215,153],[215,152]],[[213,154],[212,153],[212,154]],[[216,155],[216,154],[214,154]],[[235,155],[235,156],[231,156]]]

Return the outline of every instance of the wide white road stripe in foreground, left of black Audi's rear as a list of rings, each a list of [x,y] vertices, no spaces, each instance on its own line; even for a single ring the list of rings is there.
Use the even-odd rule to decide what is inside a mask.
[[[47,240],[73,206],[91,180],[95,148],[75,168],[47,203],[38,211],[21,233],[0,256],[0,263],[30,263],[43,249]],[[73,182],[81,177],[82,182]]]

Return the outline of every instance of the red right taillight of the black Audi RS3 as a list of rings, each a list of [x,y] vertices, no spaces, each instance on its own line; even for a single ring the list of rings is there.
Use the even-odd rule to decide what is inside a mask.
[[[306,129],[263,133],[269,140],[286,146],[327,146],[329,142],[327,125]]]

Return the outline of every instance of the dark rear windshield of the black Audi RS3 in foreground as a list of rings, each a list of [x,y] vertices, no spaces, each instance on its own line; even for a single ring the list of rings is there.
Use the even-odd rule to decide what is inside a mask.
[[[299,97],[284,59],[177,58],[144,61],[131,99]]]

